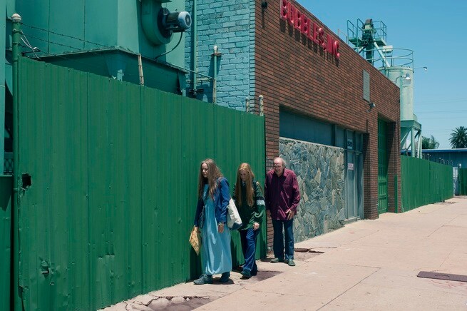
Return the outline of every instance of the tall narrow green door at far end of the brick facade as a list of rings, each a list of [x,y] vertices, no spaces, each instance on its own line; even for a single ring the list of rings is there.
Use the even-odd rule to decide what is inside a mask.
[[[388,211],[388,161],[386,122],[378,120],[378,213]]]

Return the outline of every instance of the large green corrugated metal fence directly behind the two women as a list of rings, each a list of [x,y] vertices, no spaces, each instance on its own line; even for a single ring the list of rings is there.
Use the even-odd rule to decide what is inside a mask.
[[[200,161],[265,172],[263,117],[21,58],[19,282],[26,310],[96,310],[197,277]],[[232,234],[235,261],[242,260]],[[265,225],[260,238],[265,255]]]

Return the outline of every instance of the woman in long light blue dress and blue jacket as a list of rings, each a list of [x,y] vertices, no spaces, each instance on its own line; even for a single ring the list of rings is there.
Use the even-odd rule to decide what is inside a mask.
[[[229,183],[212,159],[202,161],[198,178],[198,202],[195,228],[201,233],[202,275],[197,285],[212,284],[212,275],[222,274],[220,282],[228,282],[232,270],[230,230],[227,227]]]

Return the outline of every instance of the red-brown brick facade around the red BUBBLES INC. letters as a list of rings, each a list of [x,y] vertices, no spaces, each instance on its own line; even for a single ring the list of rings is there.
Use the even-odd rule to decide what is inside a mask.
[[[378,118],[389,123],[389,211],[394,211],[394,175],[399,176],[399,88],[364,60],[321,21],[295,1],[291,3],[339,40],[339,59],[280,18],[282,0],[261,1],[255,8],[255,96],[265,96],[266,155],[279,151],[279,107],[334,123],[364,135],[364,216],[378,218]],[[329,14],[332,14],[329,6]],[[363,99],[363,71],[370,76],[368,111]],[[400,193],[400,185],[398,186]],[[400,195],[399,204],[400,206]]]

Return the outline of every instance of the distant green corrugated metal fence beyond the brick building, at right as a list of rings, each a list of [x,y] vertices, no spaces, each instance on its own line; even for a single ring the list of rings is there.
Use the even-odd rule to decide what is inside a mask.
[[[441,202],[453,197],[450,165],[401,155],[402,210]]]

